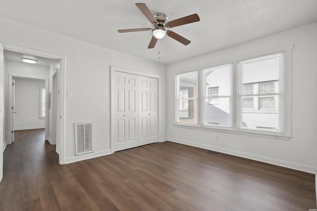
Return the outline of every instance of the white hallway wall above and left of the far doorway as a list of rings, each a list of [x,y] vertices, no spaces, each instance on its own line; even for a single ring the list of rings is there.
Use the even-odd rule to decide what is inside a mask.
[[[15,62],[10,60],[5,60],[4,69],[4,132],[5,141],[8,139],[8,81],[9,75],[14,76],[25,76],[29,78],[49,78],[49,68],[41,65],[32,65],[24,62]]]

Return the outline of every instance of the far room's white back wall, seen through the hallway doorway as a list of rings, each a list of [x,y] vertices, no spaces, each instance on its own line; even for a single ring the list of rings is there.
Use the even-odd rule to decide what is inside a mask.
[[[45,119],[40,119],[40,88],[45,88],[45,81],[15,79],[15,130],[45,128]]]

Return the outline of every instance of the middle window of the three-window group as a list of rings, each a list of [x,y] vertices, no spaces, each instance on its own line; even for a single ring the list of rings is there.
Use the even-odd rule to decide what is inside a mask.
[[[204,125],[229,127],[230,117],[230,75],[231,64],[203,70],[205,97]]]

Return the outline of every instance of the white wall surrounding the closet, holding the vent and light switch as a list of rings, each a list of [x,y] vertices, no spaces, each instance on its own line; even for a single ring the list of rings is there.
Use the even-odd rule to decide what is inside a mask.
[[[160,137],[166,137],[166,66],[0,18],[0,42],[66,57],[65,160],[110,153],[110,65],[160,76]],[[106,38],[105,38],[106,39]],[[75,157],[74,123],[94,122],[94,153]]]

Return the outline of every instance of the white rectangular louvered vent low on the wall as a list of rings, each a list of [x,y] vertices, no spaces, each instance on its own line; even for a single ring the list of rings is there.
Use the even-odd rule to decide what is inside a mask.
[[[93,123],[75,123],[76,155],[93,152]]]

